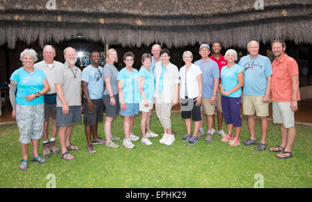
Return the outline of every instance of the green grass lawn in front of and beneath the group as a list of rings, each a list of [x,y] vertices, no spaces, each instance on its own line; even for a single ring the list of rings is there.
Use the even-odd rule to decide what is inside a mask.
[[[141,115],[135,117],[135,134],[140,131],[140,118]],[[259,174],[263,176],[263,187],[312,187],[310,126],[296,126],[293,158],[281,160],[268,150],[254,151],[254,146],[229,146],[220,141],[220,135],[214,135],[211,143],[200,137],[200,142],[189,146],[180,141],[186,131],[180,113],[173,112],[171,121],[177,132],[171,146],[159,144],[162,127],[154,112],[152,130],[159,137],[150,138],[153,145],[141,144],[141,140],[133,142],[135,149],[126,149],[122,141],[117,142],[119,149],[97,144],[94,154],[87,152],[84,125],[76,124],[71,142],[80,149],[71,152],[76,156],[75,160],[67,162],[60,158],[60,154],[53,154],[40,165],[31,162],[30,145],[26,171],[19,170],[21,149],[17,125],[3,125],[0,128],[0,187],[46,187],[53,180],[49,174],[55,176],[55,187],[254,187],[259,182]],[[280,144],[279,125],[269,123],[268,148]],[[223,129],[226,129],[225,124]],[[259,120],[256,130],[260,138]],[[105,137],[103,123],[99,124],[98,131],[101,137]],[[123,138],[120,115],[113,122],[113,133]],[[248,137],[247,119],[244,118],[241,140]]]

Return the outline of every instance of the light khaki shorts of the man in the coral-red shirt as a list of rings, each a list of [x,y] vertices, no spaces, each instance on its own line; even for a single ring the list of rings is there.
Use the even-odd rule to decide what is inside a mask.
[[[283,124],[284,128],[295,126],[295,112],[291,110],[291,102],[272,102],[273,123]]]

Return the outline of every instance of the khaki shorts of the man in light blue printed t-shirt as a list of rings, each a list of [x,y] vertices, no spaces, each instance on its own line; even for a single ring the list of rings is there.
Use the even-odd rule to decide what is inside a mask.
[[[258,117],[267,117],[269,103],[263,103],[262,98],[263,96],[243,95],[243,115],[254,115],[257,112]]]

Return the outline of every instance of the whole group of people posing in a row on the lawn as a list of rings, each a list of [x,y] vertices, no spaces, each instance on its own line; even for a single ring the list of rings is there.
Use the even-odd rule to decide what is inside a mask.
[[[135,55],[127,52],[123,55],[125,67],[118,71],[114,63],[118,62],[115,49],[107,51],[105,66],[99,66],[101,56],[98,51],[90,55],[91,65],[81,71],[75,66],[76,50],[64,49],[65,62],[54,60],[55,48],[46,45],[43,49],[44,60],[37,62],[37,53],[33,49],[21,52],[23,67],[10,77],[10,102],[12,117],[16,117],[19,128],[19,141],[23,158],[19,169],[28,168],[28,144],[33,145],[34,162],[44,163],[45,157],[61,153],[64,160],[73,160],[69,151],[78,146],[71,144],[70,137],[74,123],[85,124],[87,151],[95,153],[94,144],[105,144],[112,149],[119,147],[114,141],[121,140],[112,134],[112,121],[121,112],[123,116],[123,146],[135,147],[132,141],[139,136],[132,132],[135,115],[141,111],[141,143],[153,144],[148,138],[157,137],[151,131],[150,117],[155,104],[156,115],[162,125],[164,135],[160,144],[171,145],[177,135],[172,131],[171,108],[178,103],[187,128],[182,142],[194,145],[198,137],[206,135],[205,142],[211,142],[212,135],[222,136],[223,142],[231,146],[241,144],[241,102],[243,115],[248,116],[250,138],[242,144],[257,145],[257,151],[266,150],[268,133],[268,102],[272,92],[273,121],[280,124],[281,144],[269,149],[277,152],[277,158],[291,158],[291,149],[295,139],[294,112],[300,99],[297,62],[286,55],[286,44],[281,40],[272,42],[275,60],[270,62],[259,54],[259,42],[250,41],[248,56],[236,64],[237,53],[234,49],[220,54],[220,42],[201,44],[200,60],[192,63],[191,51],[184,51],[185,63],[180,70],[170,62],[170,52],[159,44],[152,47],[152,54],[141,56],[139,71],[133,68]],[[212,55],[209,57],[210,52]],[[98,122],[103,121],[103,108],[106,118],[104,125],[105,140],[98,137]],[[218,128],[215,128],[217,111]],[[255,133],[254,117],[261,120],[261,141]],[[49,119],[51,116],[51,139],[49,141]],[[207,133],[204,119],[207,117]],[[227,133],[223,131],[223,117],[227,124]],[[191,122],[193,120],[193,133]],[[55,144],[58,138],[61,149]],[[234,128],[234,135],[233,135]],[[38,153],[39,141],[43,142],[44,157]]]

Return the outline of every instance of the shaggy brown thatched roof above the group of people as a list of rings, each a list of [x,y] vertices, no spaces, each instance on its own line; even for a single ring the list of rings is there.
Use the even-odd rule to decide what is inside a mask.
[[[311,33],[311,0],[0,0],[0,45],[10,48],[17,40],[43,46],[75,35],[137,47],[245,47],[277,38],[312,43]]]

